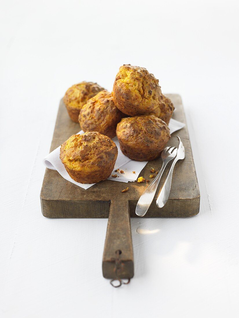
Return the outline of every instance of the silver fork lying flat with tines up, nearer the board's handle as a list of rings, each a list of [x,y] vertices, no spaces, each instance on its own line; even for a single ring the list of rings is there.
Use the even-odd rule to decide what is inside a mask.
[[[146,212],[148,211],[148,208],[150,207],[150,204],[153,201],[154,195],[156,193],[156,190],[158,188],[159,181],[161,179],[161,176],[164,172],[164,169],[168,162],[170,162],[175,156],[177,155],[177,147],[166,147],[161,154],[161,158],[163,160],[162,168],[160,169],[157,177],[154,179],[154,181],[148,186],[148,188],[144,191],[142,196],[139,198],[135,213],[139,217],[143,217]]]

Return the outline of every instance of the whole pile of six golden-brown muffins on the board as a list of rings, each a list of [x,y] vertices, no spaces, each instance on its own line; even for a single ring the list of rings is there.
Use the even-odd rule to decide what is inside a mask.
[[[115,136],[123,154],[136,161],[160,156],[171,137],[173,104],[143,67],[121,66],[112,93],[97,83],[81,82],[67,90],[63,101],[71,120],[85,131],[60,149],[62,163],[77,182],[96,183],[110,176],[118,154],[111,140]]]

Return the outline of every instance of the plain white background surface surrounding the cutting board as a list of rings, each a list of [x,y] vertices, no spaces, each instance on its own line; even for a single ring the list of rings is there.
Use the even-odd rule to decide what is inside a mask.
[[[1,0],[0,317],[238,317],[238,15],[238,1]],[[182,96],[201,206],[132,219],[135,277],[113,288],[107,219],[44,218],[39,194],[60,98],[82,80],[111,90],[126,63]]]

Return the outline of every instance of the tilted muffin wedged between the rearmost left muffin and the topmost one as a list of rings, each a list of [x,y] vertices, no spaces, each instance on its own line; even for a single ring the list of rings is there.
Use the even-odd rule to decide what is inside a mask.
[[[117,123],[125,115],[115,106],[106,90],[90,98],[81,108],[79,123],[84,131],[98,131],[110,138],[116,136]]]

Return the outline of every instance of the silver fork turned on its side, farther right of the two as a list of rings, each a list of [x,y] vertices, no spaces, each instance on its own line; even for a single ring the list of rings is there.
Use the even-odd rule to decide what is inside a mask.
[[[184,150],[183,144],[182,144],[179,136],[177,136],[177,138],[179,139],[177,156],[175,157],[175,159],[172,162],[172,166],[169,170],[169,173],[167,175],[165,183],[164,183],[164,185],[163,185],[163,187],[158,195],[158,199],[156,200],[156,204],[157,204],[158,208],[162,208],[166,204],[166,202],[168,201],[168,197],[169,197],[170,189],[171,189],[171,183],[172,183],[172,172],[173,172],[173,168],[174,168],[176,162],[180,159],[185,158],[185,150]]]

